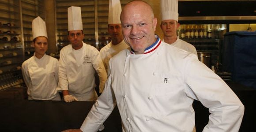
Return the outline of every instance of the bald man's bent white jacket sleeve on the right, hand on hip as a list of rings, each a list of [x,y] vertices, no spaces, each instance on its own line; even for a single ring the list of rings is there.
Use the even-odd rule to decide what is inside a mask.
[[[190,55],[184,64],[186,94],[199,100],[211,113],[203,132],[238,132],[244,106],[231,88],[213,71]]]

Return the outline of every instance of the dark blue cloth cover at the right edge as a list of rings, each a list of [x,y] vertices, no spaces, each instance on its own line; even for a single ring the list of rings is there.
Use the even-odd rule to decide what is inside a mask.
[[[224,34],[222,64],[233,81],[256,89],[256,32]]]

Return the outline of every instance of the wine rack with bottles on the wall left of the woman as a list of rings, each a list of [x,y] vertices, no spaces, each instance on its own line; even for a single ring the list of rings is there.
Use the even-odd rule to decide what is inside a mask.
[[[32,20],[44,0],[0,0],[0,91],[24,88],[21,65],[34,53]],[[40,6],[40,7],[39,7]]]

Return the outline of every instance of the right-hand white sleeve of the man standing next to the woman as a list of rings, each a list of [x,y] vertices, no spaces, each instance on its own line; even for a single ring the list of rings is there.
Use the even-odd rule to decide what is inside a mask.
[[[106,70],[105,70],[105,66],[102,62],[100,52],[97,49],[94,49],[92,64],[93,64],[94,69],[98,73],[99,80],[100,80],[99,92],[102,93],[103,89],[104,89],[104,86],[105,86],[105,81],[107,80],[107,73],[106,73]]]

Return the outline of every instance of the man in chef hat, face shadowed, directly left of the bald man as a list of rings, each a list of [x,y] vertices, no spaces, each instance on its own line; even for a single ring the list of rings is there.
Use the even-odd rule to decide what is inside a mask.
[[[104,46],[101,50],[102,61],[105,69],[108,70],[109,59],[118,52],[129,48],[128,44],[124,42],[122,34],[122,26],[120,21],[120,14],[122,8],[120,0],[109,0],[109,25],[108,31],[111,37],[111,42]]]

